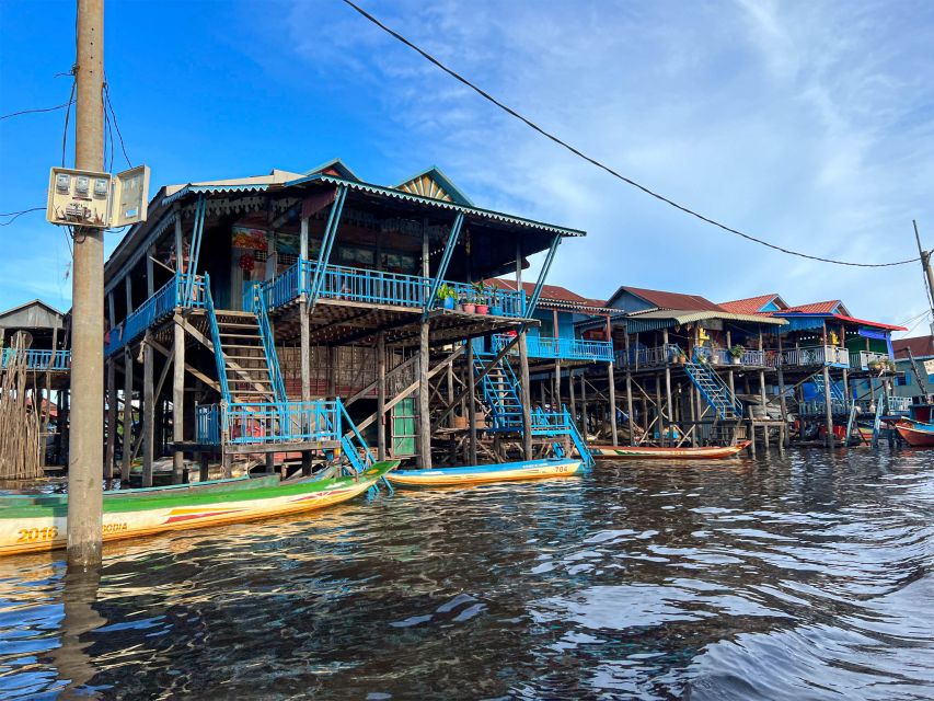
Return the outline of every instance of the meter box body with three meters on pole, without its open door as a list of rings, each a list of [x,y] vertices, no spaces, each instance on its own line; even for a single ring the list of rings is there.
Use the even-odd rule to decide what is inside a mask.
[[[46,220],[51,223],[111,226],[111,174],[53,168],[48,182]]]

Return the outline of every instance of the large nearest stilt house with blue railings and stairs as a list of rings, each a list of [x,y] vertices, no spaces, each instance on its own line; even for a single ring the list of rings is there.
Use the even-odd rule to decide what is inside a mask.
[[[339,160],[165,186],[149,211],[105,267],[107,392],[129,400],[108,435],[123,422],[143,485],[160,456],[178,482],[188,460],[205,478],[586,452],[528,380],[545,276],[583,231],[477,207],[437,168],[381,186]]]

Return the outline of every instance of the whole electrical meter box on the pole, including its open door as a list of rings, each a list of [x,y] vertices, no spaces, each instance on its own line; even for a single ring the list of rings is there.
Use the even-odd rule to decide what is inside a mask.
[[[146,221],[149,166],[123,173],[53,168],[46,220],[50,223],[109,229]]]

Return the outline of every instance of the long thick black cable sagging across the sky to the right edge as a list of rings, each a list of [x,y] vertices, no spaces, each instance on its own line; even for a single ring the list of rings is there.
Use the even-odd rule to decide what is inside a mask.
[[[764,245],[764,246],[766,246],[766,248],[770,248],[770,249],[772,249],[772,250],[774,250],[774,251],[779,251],[779,252],[781,252],[781,253],[786,253],[786,254],[788,254],[788,255],[796,255],[796,256],[798,256],[798,257],[802,257],[802,258],[808,258],[808,260],[810,260],[810,261],[819,261],[819,262],[821,262],[821,263],[832,263],[833,265],[849,265],[849,266],[853,266],[853,267],[892,267],[892,266],[895,266],[895,265],[907,265],[907,264],[909,264],[909,263],[915,263],[915,262],[918,262],[918,260],[919,260],[919,258],[909,258],[909,260],[907,260],[907,261],[896,261],[896,262],[892,262],[892,263],[854,263],[854,262],[852,262],[852,261],[837,261],[837,260],[834,260],[834,258],[826,258],[826,257],[821,257],[821,256],[819,256],[819,255],[809,255],[809,254],[807,254],[807,253],[800,253],[799,251],[793,251],[793,250],[791,250],[791,249],[785,249],[785,248],[780,246],[780,245],[776,245],[776,244],[774,244],[774,243],[769,243],[768,241],[763,241],[762,239],[758,239],[758,238],[756,238],[756,237],[753,237],[753,235],[751,235],[751,234],[743,233],[742,231],[739,231],[738,229],[734,229],[733,227],[728,227],[728,226],[727,226],[727,225],[725,225],[725,223],[720,223],[720,222],[719,222],[719,221],[717,221],[716,219],[711,219],[710,217],[706,217],[706,216],[704,216],[704,215],[702,215],[702,214],[700,214],[700,212],[697,212],[697,211],[694,211],[693,209],[691,209],[691,208],[689,208],[689,207],[687,207],[687,206],[684,206],[684,205],[680,205],[680,204],[678,204],[677,202],[674,202],[673,199],[669,199],[669,198],[668,198],[668,197],[666,197],[665,195],[661,195],[661,194],[659,194],[659,193],[657,193],[657,192],[655,192],[655,191],[650,189],[649,187],[647,187],[647,186],[645,186],[645,185],[643,185],[643,184],[641,184],[641,183],[637,183],[636,181],[632,180],[631,177],[626,177],[625,175],[623,175],[623,174],[619,173],[618,171],[615,171],[615,170],[614,170],[614,169],[612,169],[611,166],[606,165],[604,163],[601,163],[601,162],[600,162],[600,161],[598,161],[597,159],[591,158],[590,156],[587,156],[586,153],[584,153],[584,152],[583,152],[583,151],[580,151],[579,149],[577,149],[577,148],[575,148],[575,147],[570,146],[567,141],[564,141],[563,139],[561,139],[561,138],[560,138],[560,137],[557,137],[557,136],[555,136],[554,134],[552,134],[552,133],[550,133],[550,131],[546,131],[545,129],[543,129],[542,127],[540,127],[538,124],[535,124],[534,122],[532,122],[532,120],[531,120],[531,119],[529,119],[528,117],[522,116],[521,114],[519,114],[518,112],[516,112],[515,110],[512,110],[511,107],[509,107],[508,105],[504,104],[503,102],[500,102],[499,100],[497,100],[496,97],[494,97],[493,95],[491,95],[488,92],[484,91],[483,89],[478,88],[477,85],[475,85],[474,83],[472,83],[470,80],[468,80],[466,78],[464,78],[463,76],[461,76],[460,73],[458,73],[457,71],[454,71],[453,69],[448,68],[448,67],[447,67],[445,64],[442,64],[440,60],[438,60],[437,58],[435,58],[434,56],[431,56],[430,54],[428,54],[426,50],[424,50],[424,49],[419,48],[418,46],[416,46],[415,44],[413,44],[412,42],[410,42],[407,38],[405,38],[404,36],[402,36],[399,32],[395,32],[394,30],[391,30],[390,27],[388,27],[385,24],[383,24],[382,22],[380,22],[380,21],[379,21],[377,18],[374,18],[372,14],[370,14],[369,12],[367,12],[366,10],[364,10],[360,5],[358,5],[358,4],[356,4],[355,2],[353,2],[353,0],[342,0],[342,2],[344,2],[344,3],[345,3],[346,5],[348,5],[349,8],[351,8],[351,9],[354,9],[354,10],[356,10],[356,11],[357,11],[360,15],[362,15],[366,20],[368,20],[369,22],[371,22],[371,23],[376,24],[376,25],[377,25],[378,27],[380,27],[383,32],[385,32],[385,33],[387,33],[387,34],[389,34],[390,36],[392,36],[392,37],[394,37],[394,38],[399,39],[400,42],[402,42],[403,44],[405,44],[408,48],[411,48],[412,50],[414,50],[414,51],[416,51],[417,54],[419,54],[423,58],[425,58],[425,59],[426,59],[426,60],[428,60],[429,62],[431,62],[431,64],[434,64],[435,66],[437,66],[438,68],[440,68],[442,71],[445,71],[446,73],[448,73],[451,78],[453,78],[454,80],[457,80],[457,81],[459,81],[459,82],[463,83],[464,85],[466,85],[468,88],[470,88],[471,90],[473,90],[475,93],[477,93],[480,96],[482,96],[484,100],[487,100],[488,102],[492,102],[494,105],[496,105],[497,107],[499,107],[500,110],[503,110],[504,112],[506,112],[507,114],[509,114],[510,116],[512,116],[512,117],[515,117],[515,118],[519,119],[519,120],[520,120],[520,122],[522,122],[526,126],[528,126],[528,127],[530,127],[531,129],[533,129],[533,130],[538,131],[538,133],[539,133],[539,134],[541,134],[543,137],[545,137],[545,138],[547,138],[547,139],[552,140],[552,141],[554,141],[555,143],[557,143],[558,146],[561,146],[561,147],[563,147],[563,148],[565,148],[565,149],[567,149],[568,151],[570,151],[572,153],[574,153],[574,154],[575,154],[575,156],[577,156],[578,158],[584,159],[584,160],[585,160],[585,161],[587,161],[588,163],[590,163],[590,164],[592,164],[592,165],[596,165],[597,168],[599,168],[599,169],[601,169],[601,170],[603,170],[603,171],[608,172],[608,173],[609,173],[610,175],[612,175],[613,177],[616,177],[618,180],[621,180],[621,181],[623,181],[624,183],[626,183],[626,184],[629,184],[629,185],[632,185],[633,187],[635,187],[635,188],[637,188],[637,189],[641,189],[641,191],[642,191],[642,192],[644,192],[646,195],[649,195],[649,196],[652,196],[652,197],[655,197],[656,199],[658,199],[658,200],[660,200],[660,202],[665,203],[666,205],[669,205],[669,206],[671,206],[671,207],[674,207],[676,209],[678,209],[678,210],[680,210],[680,211],[682,211],[682,212],[684,212],[684,214],[687,214],[687,215],[690,215],[690,216],[692,216],[692,217],[695,217],[695,218],[700,219],[701,221],[704,221],[704,222],[706,222],[706,223],[708,223],[708,225],[712,225],[712,226],[714,226],[714,227],[717,227],[718,229],[723,229],[724,231],[728,231],[729,233],[735,233],[735,234],[736,234],[736,235],[738,235],[738,237],[742,237],[742,238],[743,238],[743,239],[746,239],[747,241],[752,241],[753,243],[758,243],[758,244],[760,244],[760,245]]]

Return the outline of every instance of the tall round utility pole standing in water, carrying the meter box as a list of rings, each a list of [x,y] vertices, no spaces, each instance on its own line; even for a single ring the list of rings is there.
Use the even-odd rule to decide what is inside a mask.
[[[78,0],[74,166],[104,169],[104,0]],[[101,564],[104,466],[104,232],[79,228],[71,287],[68,567]]]

